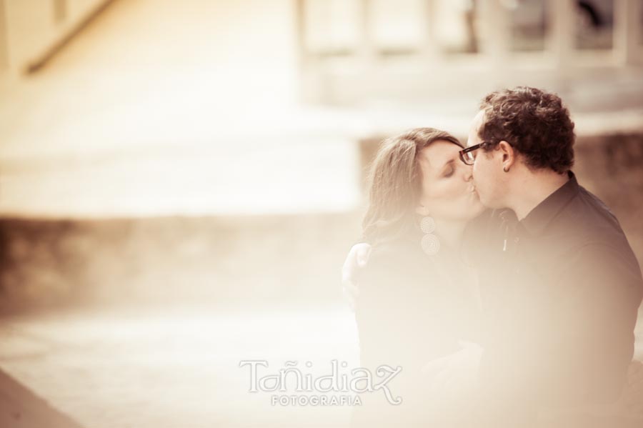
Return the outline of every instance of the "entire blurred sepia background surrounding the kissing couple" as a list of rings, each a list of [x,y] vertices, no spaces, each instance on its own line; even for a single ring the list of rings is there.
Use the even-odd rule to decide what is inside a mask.
[[[516,85],[643,261],[643,0],[0,0],[0,426],[346,424],[239,360],[357,364],[378,142]]]

